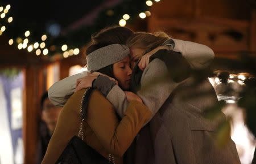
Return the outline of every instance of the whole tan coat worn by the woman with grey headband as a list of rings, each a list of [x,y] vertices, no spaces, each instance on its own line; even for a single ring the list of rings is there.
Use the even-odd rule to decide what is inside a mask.
[[[80,104],[85,89],[74,93],[61,110],[55,132],[49,142],[43,164],[55,163],[68,141],[77,135],[80,126]],[[112,104],[94,90],[88,104],[87,122],[104,148],[122,157],[143,124],[151,117],[142,103],[131,101],[119,122]]]

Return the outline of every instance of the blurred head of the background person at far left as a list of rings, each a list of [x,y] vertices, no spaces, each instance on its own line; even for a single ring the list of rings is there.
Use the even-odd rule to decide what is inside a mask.
[[[41,97],[41,119],[46,123],[48,130],[52,133],[56,127],[56,123],[61,111],[61,107],[54,106],[48,98],[48,92]]]

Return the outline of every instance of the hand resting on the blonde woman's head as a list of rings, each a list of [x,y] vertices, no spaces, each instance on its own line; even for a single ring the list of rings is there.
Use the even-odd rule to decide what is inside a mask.
[[[149,63],[149,59],[150,57],[155,54],[158,50],[162,50],[162,49],[169,49],[168,46],[159,46],[157,48],[155,48],[154,50],[152,51],[149,51],[148,53],[144,54],[142,57],[141,57],[141,60],[139,61],[139,68],[144,71],[144,69],[147,67],[148,63]]]

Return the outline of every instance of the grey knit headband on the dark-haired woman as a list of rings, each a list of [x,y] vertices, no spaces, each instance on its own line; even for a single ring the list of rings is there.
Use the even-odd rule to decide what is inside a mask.
[[[87,69],[100,70],[110,64],[121,61],[129,54],[130,49],[125,45],[113,44],[105,46],[87,55]]]

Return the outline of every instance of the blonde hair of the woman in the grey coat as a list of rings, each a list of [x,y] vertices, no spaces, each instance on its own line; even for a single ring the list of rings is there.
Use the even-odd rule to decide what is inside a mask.
[[[162,45],[165,41],[170,39],[165,32],[136,32],[127,40],[126,45],[131,48],[144,49],[144,54]]]

